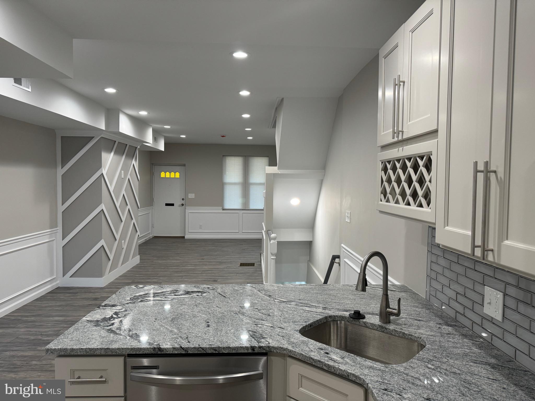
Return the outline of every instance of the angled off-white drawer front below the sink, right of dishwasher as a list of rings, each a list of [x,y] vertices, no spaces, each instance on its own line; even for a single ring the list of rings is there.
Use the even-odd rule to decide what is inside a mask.
[[[286,360],[286,375],[286,394],[296,401],[365,401],[361,385],[291,357]]]

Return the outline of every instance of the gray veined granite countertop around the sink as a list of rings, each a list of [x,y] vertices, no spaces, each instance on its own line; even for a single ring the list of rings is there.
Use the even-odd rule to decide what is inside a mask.
[[[401,317],[384,325],[381,287],[221,284],[119,290],[50,343],[52,354],[282,352],[363,384],[376,401],[533,400],[535,375],[406,286],[390,286]],[[360,309],[366,319],[348,312]],[[425,344],[413,359],[384,365],[300,334],[350,320]]]

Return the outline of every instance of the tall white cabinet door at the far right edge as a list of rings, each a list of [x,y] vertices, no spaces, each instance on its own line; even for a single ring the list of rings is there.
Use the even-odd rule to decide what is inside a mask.
[[[535,274],[535,2],[496,3],[488,260]],[[510,18],[512,13],[513,18]],[[512,25],[511,25],[512,24]]]

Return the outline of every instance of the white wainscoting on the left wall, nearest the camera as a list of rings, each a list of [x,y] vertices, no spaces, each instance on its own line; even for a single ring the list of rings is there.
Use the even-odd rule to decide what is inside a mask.
[[[59,286],[58,229],[0,241],[0,317]]]

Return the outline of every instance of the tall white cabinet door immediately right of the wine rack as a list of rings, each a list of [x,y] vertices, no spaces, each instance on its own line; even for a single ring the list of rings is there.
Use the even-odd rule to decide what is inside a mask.
[[[494,13],[492,1],[442,2],[437,242],[467,253],[473,162],[483,168],[490,156]],[[477,197],[473,234],[479,244],[481,174]]]

